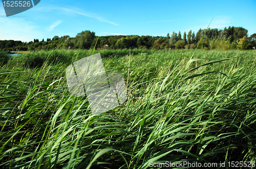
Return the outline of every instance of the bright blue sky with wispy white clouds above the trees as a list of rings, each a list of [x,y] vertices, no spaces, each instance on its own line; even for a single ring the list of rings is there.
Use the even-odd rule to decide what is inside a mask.
[[[215,16],[215,17],[214,17]],[[201,28],[242,26],[256,33],[256,1],[53,1],[41,0],[6,17],[0,4],[0,40],[24,42],[89,30],[96,36],[195,33]]]

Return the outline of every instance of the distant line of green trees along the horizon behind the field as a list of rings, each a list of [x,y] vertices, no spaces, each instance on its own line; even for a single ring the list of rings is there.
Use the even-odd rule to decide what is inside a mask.
[[[76,37],[54,36],[46,41],[34,39],[30,42],[4,40],[0,41],[0,49],[3,51],[27,51],[27,50],[50,50],[50,49],[123,49],[123,48],[144,48],[144,49],[255,49],[256,34],[248,37],[248,31],[243,27],[228,27],[224,30],[200,29],[196,34],[190,30],[188,33],[169,33],[163,36],[95,36],[95,32],[82,31]]]

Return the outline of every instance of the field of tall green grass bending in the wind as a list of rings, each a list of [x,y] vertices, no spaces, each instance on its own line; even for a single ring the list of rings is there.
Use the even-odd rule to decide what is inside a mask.
[[[256,161],[255,50],[95,51],[105,70],[129,78],[126,102],[100,116],[65,78],[93,51],[50,52],[0,67],[0,168]]]

